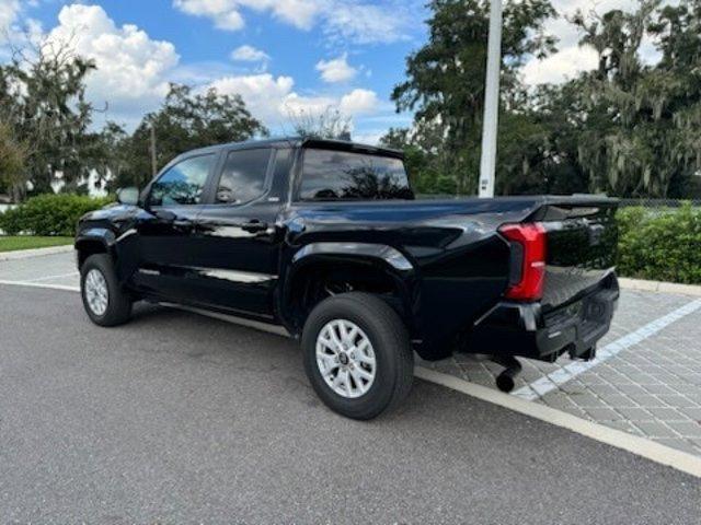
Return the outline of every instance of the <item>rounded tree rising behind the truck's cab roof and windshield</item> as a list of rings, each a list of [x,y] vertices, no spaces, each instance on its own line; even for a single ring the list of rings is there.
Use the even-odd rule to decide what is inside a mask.
[[[214,89],[200,94],[189,86],[171,84],[161,108],[146,115],[129,138],[111,136],[120,152],[113,159],[118,166],[113,170],[115,186],[142,186],[151,178],[151,129],[159,170],[188,150],[267,136],[240,95],[223,95]]]

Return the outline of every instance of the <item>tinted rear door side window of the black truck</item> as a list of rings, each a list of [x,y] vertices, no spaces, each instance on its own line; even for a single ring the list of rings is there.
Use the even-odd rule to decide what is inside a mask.
[[[219,205],[244,205],[265,191],[271,149],[231,151],[217,185]]]

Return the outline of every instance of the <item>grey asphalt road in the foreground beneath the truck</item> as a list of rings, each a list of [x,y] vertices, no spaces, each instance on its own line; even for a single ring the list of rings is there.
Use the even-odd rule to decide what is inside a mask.
[[[699,523],[699,479],[435,385],[337,417],[214,319],[0,285],[0,523]]]

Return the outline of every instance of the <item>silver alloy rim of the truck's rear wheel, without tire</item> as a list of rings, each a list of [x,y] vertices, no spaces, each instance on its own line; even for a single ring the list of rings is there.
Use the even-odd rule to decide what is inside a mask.
[[[319,331],[317,365],[331,389],[348,399],[366,394],[377,375],[370,338],[346,319],[331,320]]]

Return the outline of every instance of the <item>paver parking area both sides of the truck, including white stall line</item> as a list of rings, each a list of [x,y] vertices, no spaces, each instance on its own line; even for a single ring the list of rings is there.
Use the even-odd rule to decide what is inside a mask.
[[[78,290],[72,253],[0,262],[0,282]],[[623,290],[594,363],[522,360],[514,395],[701,456],[701,300]],[[495,387],[502,368],[468,354],[423,366]]]

